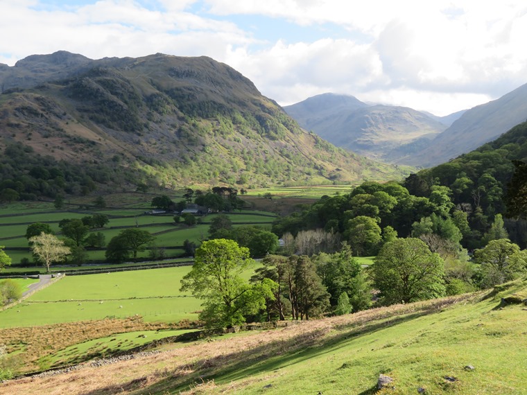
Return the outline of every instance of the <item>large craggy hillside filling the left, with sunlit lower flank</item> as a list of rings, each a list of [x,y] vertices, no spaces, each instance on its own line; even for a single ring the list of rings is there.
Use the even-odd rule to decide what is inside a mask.
[[[241,73],[206,57],[89,60],[60,51],[4,65],[0,86],[1,150],[17,143],[31,157],[49,155],[57,168],[105,166],[106,176],[95,181],[112,188],[247,188],[401,175],[305,132]],[[29,171],[4,177],[24,183]]]

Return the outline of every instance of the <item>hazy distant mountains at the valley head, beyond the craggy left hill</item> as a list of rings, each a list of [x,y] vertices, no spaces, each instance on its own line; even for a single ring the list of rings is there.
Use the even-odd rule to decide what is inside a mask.
[[[527,85],[472,109],[438,117],[368,105],[336,94],[284,107],[306,130],[336,146],[388,163],[429,167],[478,148],[527,119]]]

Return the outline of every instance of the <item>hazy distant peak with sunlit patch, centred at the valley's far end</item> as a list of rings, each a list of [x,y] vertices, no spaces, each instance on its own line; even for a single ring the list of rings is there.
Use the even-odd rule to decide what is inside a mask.
[[[398,161],[447,128],[408,107],[367,105],[353,96],[322,94],[284,107],[303,128],[336,146],[382,161]]]

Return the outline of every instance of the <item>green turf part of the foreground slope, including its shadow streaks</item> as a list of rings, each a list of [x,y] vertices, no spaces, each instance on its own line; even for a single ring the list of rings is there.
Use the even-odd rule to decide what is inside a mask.
[[[446,304],[313,321],[295,337],[232,353],[228,362],[144,393],[177,394],[201,384],[199,393],[207,394],[526,394],[525,305],[501,304],[526,292],[524,279]],[[394,380],[393,389],[377,390],[379,374]]]

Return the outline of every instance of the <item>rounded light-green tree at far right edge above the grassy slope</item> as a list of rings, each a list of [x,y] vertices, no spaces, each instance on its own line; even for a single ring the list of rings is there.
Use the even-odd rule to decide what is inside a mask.
[[[483,249],[476,249],[474,258],[481,265],[483,284],[485,288],[515,279],[525,272],[521,259],[517,259],[519,247],[510,243],[508,238],[490,240]]]

